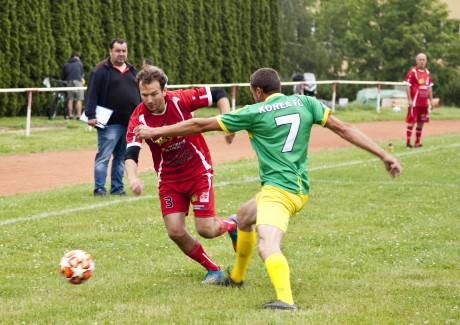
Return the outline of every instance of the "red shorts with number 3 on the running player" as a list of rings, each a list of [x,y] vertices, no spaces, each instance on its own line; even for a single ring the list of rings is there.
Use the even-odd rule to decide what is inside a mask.
[[[185,182],[160,183],[158,196],[163,216],[175,212],[185,212],[187,216],[189,206],[192,204],[195,217],[214,217],[216,210],[214,207],[212,178],[212,174],[206,173],[201,177]]]

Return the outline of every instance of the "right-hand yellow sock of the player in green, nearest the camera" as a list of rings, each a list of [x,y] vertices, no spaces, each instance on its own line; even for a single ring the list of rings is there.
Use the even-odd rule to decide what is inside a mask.
[[[289,265],[284,255],[279,253],[270,255],[265,259],[265,267],[275,287],[277,299],[290,305],[294,304]]]

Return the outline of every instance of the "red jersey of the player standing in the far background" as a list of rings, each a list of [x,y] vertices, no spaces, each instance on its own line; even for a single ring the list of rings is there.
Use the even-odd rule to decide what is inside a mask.
[[[428,94],[433,86],[430,72],[427,69],[413,67],[407,72],[404,83],[410,86],[410,97],[414,107],[428,107]]]

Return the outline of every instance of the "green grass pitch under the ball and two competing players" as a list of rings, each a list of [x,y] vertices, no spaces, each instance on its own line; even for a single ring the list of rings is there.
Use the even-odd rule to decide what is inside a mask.
[[[88,185],[0,197],[0,323],[459,324],[460,134],[423,143],[395,152],[398,179],[359,149],[310,156],[311,197],[283,243],[296,312],[255,309],[275,298],[257,252],[243,288],[201,285],[205,270],[167,238],[153,174],[142,197],[101,200]],[[215,175],[223,217],[259,189],[254,160]],[[228,236],[200,241],[233,265]],[[70,249],[96,260],[79,286],[57,273]]]

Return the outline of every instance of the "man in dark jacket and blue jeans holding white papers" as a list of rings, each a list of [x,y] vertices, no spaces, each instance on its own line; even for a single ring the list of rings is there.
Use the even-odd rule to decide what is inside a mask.
[[[109,57],[91,71],[85,102],[88,125],[96,126],[96,106],[113,110],[106,127],[97,127],[97,145],[94,164],[94,196],[105,196],[105,183],[110,157],[111,195],[126,195],[123,186],[126,129],[134,108],[141,98],[136,83],[136,70],[126,61],[128,44],[121,38],[110,42]]]

